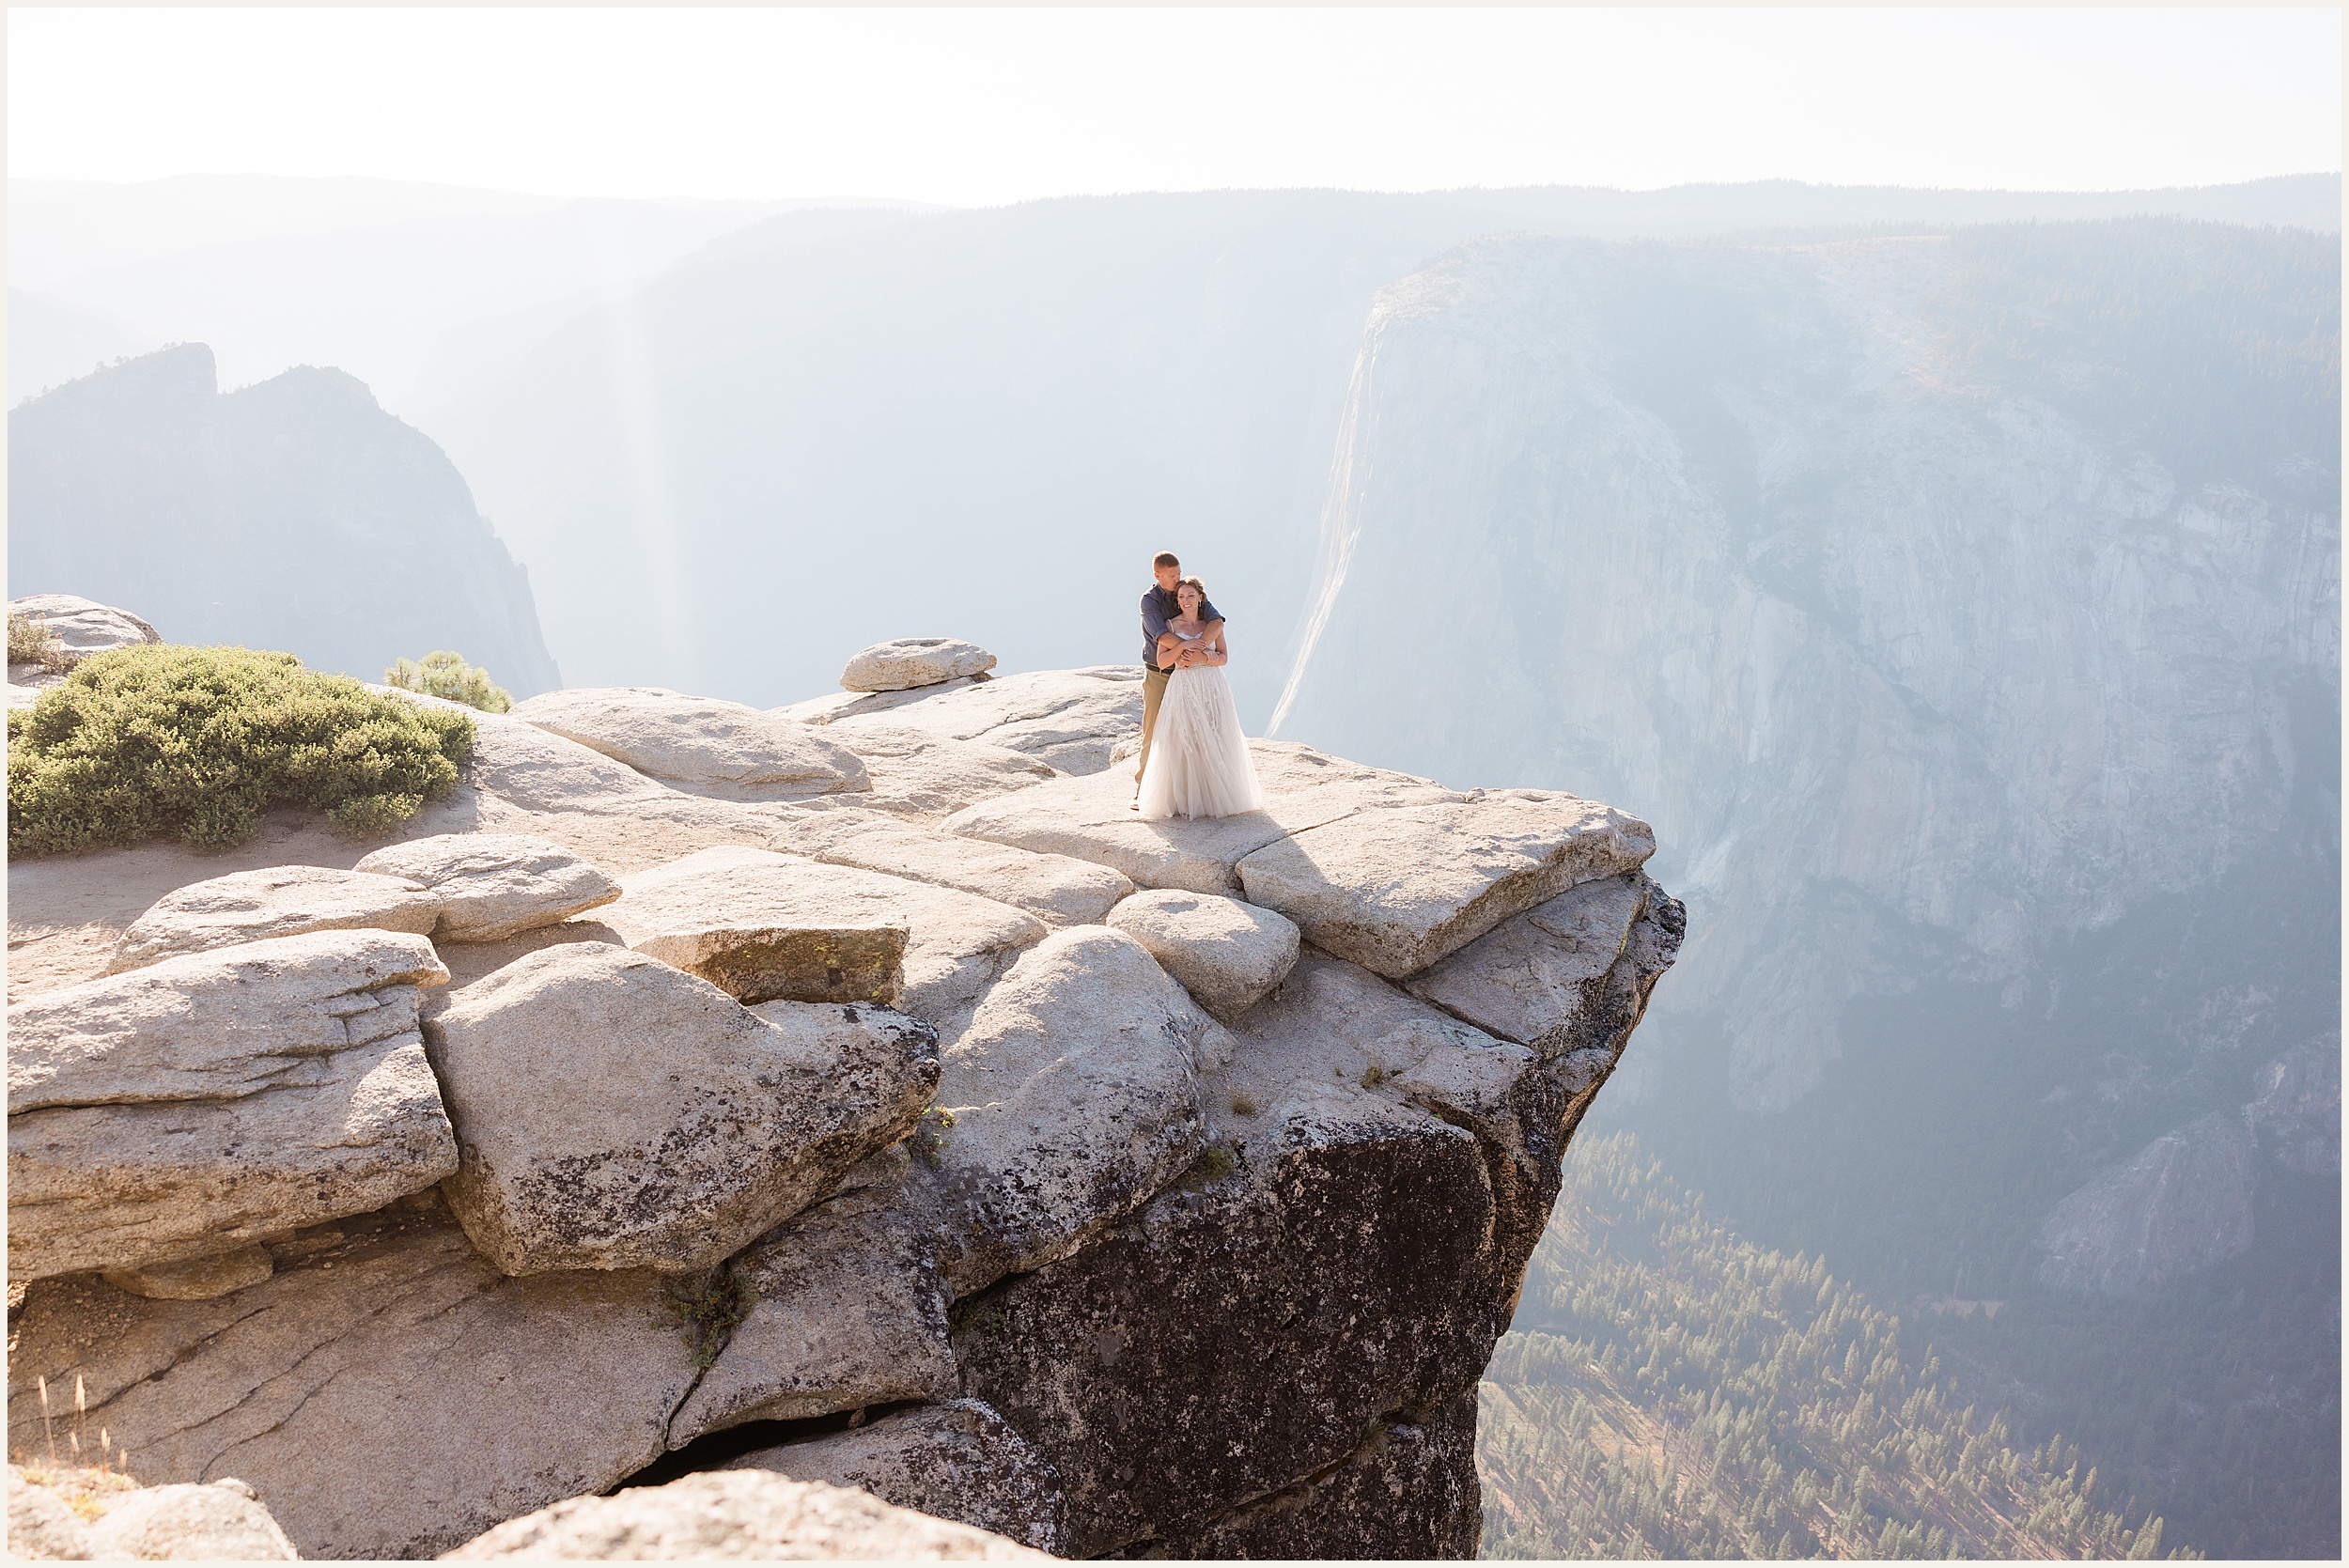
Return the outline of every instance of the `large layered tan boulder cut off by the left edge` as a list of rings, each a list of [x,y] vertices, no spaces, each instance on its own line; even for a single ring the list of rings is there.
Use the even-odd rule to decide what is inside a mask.
[[[456,1169],[423,937],[308,932],[9,1007],[9,1277],[139,1270]]]

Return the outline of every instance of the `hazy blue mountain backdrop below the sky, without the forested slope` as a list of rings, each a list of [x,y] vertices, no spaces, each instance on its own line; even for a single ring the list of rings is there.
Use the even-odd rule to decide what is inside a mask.
[[[1179,549],[1252,735],[1654,824],[1689,941],[1583,1136],[2128,1528],[2337,1554],[2337,176],[12,209],[12,596],[775,707],[1128,662]],[[1487,1545],[1569,1547],[1510,1455]]]

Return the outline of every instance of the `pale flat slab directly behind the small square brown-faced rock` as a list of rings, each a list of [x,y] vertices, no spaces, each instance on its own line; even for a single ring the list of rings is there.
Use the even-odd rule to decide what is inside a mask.
[[[970,1007],[1019,948],[1045,934],[1036,915],[954,887],[733,845],[622,878],[622,887],[601,918],[658,955],[691,958],[705,941],[726,941],[723,932],[902,927],[902,1007],[937,1023]]]

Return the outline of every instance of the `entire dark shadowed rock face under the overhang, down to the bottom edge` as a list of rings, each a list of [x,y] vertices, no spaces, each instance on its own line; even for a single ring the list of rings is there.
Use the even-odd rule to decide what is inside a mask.
[[[1560,1056],[1445,1103],[1473,1096],[1438,1099],[1426,1063],[1334,1075],[1252,1117],[1266,1134],[1226,1117],[1221,1178],[1210,1155],[1104,1242],[956,1303],[963,1390],[1059,1469],[1073,1556],[1475,1554],[1475,1378],[1682,920],[1656,894],[1616,960],[1595,1077]],[[1287,991],[1236,1073],[1280,1052]]]

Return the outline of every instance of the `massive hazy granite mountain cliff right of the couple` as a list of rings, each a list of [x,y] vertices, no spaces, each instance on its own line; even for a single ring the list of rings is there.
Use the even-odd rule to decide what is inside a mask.
[[[1748,1239],[2008,1303],[1952,1364],[2253,1556],[2337,1549],[2337,265],[1466,246],[1369,317],[1271,725],[1651,805],[1696,930],[1614,1124]]]

